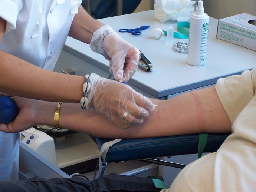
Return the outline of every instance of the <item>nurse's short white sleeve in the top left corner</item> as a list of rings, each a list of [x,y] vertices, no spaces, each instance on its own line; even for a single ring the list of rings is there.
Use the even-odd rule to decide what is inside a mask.
[[[16,21],[19,13],[17,0],[2,0],[0,5],[0,17],[6,20],[5,33],[16,29]]]

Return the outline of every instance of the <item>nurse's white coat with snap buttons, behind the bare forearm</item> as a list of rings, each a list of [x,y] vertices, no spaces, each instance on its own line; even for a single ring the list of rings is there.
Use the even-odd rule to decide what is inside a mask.
[[[53,70],[81,0],[4,0],[0,49]],[[0,133],[0,181],[18,179],[19,133]],[[4,171],[3,171],[4,170]]]

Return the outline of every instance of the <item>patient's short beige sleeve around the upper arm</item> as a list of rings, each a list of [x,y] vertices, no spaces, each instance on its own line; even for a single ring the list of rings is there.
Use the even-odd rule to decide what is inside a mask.
[[[215,88],[231,123],[254,96],[255,82],[256,68],[217,81]]]

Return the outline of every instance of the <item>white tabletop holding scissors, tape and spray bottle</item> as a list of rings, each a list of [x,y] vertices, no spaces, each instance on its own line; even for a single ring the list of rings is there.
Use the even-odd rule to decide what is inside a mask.
[[[109,24],[118,34],[136,46],[153,64],[151,72],[138,69],[129,80],[131,85],[150,93],[155,97],[165,97],[171,94],[212,85],[219,77],[241,73],[245,69],[256,66],[256,52],[216,38],[218,20],[210,17],[207,41],[206,65],[191,66],[187,64],[187,54],[175,52],[172,44],[165,44],[165,38],[156,40],[152,30],[159,27],[166,30],[168,25],[157,21],[154,10],[100,19]],[[137,28],[150,25],[141,31],[142,35],[132,36],[130,33],[118,32],[121,28]],[[177,24],[173,23],[174,30]],[[188,42],[188,40],[174,39]],[[66,40],[67,47],[72,48],[77,55],[93,58],[93,65],[108,71],[108,60],[92,52],[88,44],[71,37]],[[68,49],[69,49],[68,48]],[[64,47],[65,49],[65,47]]]

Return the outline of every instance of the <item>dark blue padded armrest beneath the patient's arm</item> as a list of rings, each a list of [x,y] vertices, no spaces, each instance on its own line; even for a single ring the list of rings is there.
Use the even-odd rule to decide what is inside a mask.
[[[214,152],[230,133],[209,133],[204,152]],[[166,136],[158,138],[124,139],[112,145],[106,162],[121,162],[135,159],[157,158],[198,152],[199,134]],[[99,149],[102,144],[114,139],[96,138]]]

